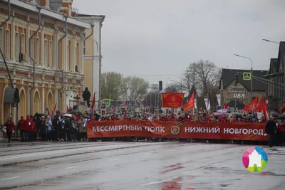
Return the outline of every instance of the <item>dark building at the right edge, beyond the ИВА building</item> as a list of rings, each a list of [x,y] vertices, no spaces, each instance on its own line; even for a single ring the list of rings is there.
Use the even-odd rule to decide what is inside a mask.
[[[264,78],[268,80],[266,84],[266,96],[268,100],[267,109],[279,111],[285,101],[285,42],[281,41],[279,45],[278,58],[271,58],[269,71]]]

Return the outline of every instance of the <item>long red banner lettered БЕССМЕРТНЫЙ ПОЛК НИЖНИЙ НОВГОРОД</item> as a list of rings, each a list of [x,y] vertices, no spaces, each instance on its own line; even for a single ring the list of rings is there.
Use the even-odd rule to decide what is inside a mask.
[[[267,141],[264,124],[234,122],[148,122],[135,120],[90,121],[88,138],[155,137],[183,139],[236,139]]]

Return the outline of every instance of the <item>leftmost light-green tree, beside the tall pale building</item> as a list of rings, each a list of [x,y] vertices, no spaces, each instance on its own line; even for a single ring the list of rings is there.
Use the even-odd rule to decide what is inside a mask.
[[[101,75],[102,97],[118,100],[123,93],[123,75],[115,72]]]

